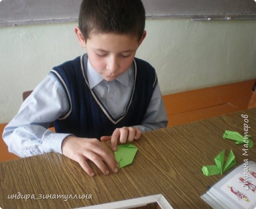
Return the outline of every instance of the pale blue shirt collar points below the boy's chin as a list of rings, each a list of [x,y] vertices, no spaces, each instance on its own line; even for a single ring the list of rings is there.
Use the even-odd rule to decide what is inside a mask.
[[[132,65],[131,65],[132,66]],[[118,80],[119,82],[121,82],[123,85],[125,86],[129,86],[129,74],[132,73],[131,70],[131,66],[129,67],[129,69],[121,74],[119,77],[117,77],[115,80]],[[102,80],[104,80],[100,74],[98,74],[93,66],[91,65],[89,58],[87,61],[87,78],[88,78],[88,82],[90,85],[90,88],[93,89],[97,84],[99,84]]]

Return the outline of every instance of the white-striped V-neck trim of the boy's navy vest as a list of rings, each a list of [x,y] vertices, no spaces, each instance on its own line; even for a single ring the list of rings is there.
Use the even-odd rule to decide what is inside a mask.
[[[115,119],[115,118],[110,114],[110,112],[107,110],[107,108],[104,106],[104,104],[102,104],[102,102],[99,100],[99,98],[97,97],[97,95],[96,95],[96,93],[94,92],[94,90],[90,88],[89,81],[88,81],[88,78],[87,78],[86,73],[85,73],[85,69],[86,69],[86,64],[87,64],[87,63],[84,63],[84,59],[83,59],[84,56],[87,56],[87,54],[84,54],[84,55],[81,55],[81,56],[80,56],[80,64],[81,64],[81,71],[82,71],[83,77],[84,77],[84,79],[85,79],[85,82],[86,82],[88,88],[90,89],[91,94],[93,95],[93,97],[94,97],[96,103],[99,105],[100,109],[103,111],[103,113],[106,115],[106,117],[107,117],[113,124],[116,125],[116,124],[118,124],[121,120],[123,120],[124,117],[126,117],[126,115],[127,115],[127,113],[128,113],[128,110],[129,110],[129,107],[130,107],[130,104],[131,104],[131,102],[132,102],[132,98],[133,98],[133,94],[134,94],[134,90],[135,90],[136,78],[137,78],[137,65],[136,65],[136,61],[135,61],[135,59],[133,59],[133,65],[134,65],[134,74],[133,74],[133,76],[134,76],[134,83],[133,83],[133,88],[132,88],[132,92],[131,92],[131,95],[130,95],[129,102],[128,102],[128,105],[127,105],[127,107],[126,107],[126,111],[125,111],[125,113],[124,113],[121,117]],[[88,56],[87,56],[87,59],[88,59]]]

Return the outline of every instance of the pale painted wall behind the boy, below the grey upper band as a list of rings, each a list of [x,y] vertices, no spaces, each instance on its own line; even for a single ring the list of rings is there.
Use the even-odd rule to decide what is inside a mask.
[[[53,66],[82,53],[74,23],[0,28],[0,123]],[[256,78],[256,21],[146,21],[136,56],[157,70],[162,94]]]

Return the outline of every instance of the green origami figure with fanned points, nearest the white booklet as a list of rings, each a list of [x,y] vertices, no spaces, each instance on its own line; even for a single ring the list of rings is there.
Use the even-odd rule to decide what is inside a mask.
[[[204,165],[202,167],[203,174],[205,176],[212,176],[217,174],[222,175],[229,168],[233,167],[236,164],[235,155],[232,150],[230,150],[225,164],[224,164],[224,156],[225,156],[225,150],[223,150],[216,157],[214,157],[214,161],[216,165]]]

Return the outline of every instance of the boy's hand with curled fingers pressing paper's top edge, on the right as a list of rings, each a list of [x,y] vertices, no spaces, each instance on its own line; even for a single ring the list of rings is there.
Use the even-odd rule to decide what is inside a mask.
[[[117,150],[118,139],[121,144],[132,142],[134,139],[137,140],[141,136],[141,131],[135,127],[123,127],[117,128],[111,136],[101,136],[100,141],[111,140],[111,147],[113,151]]]

